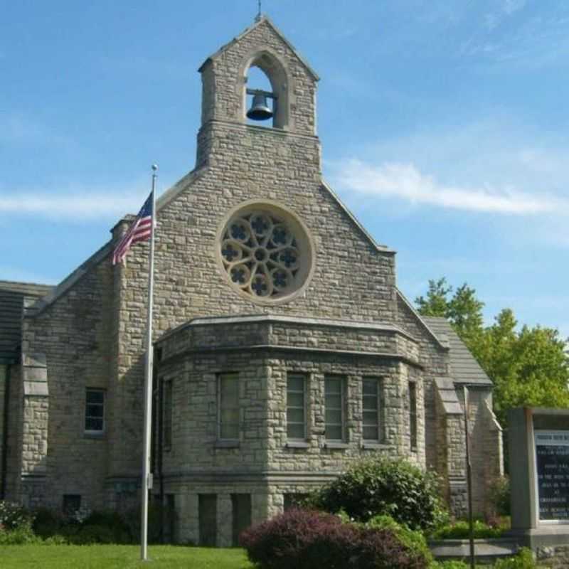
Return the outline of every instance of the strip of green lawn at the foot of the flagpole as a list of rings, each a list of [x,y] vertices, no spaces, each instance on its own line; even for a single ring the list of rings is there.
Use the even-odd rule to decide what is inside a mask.
[[[150,563],[137,546],[0,546],[2,569],[252,569],[243,549],[150,546]]]

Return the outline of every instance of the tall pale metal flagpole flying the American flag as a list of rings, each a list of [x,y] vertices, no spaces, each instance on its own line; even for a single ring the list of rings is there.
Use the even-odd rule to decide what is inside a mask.
[[[142,458],[142,508],[140,524],[140,558],[148,560],[148,492],[152,489],[150,472],[150,438],[152,417],[152,305],[154,296],[154,225],[156,225],[156,171],[152,164],[152,223],[148,267],[147,354],[144,365],[144,452]]]

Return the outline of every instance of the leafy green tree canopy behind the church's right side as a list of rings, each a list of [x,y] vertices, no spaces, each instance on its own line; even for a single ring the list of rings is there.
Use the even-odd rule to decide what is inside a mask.
[[[425,297],[415,299],[420,314],[447,318],[494,382],[494,412],[506,425],[509,408],[569,408],[568,344],[556,329],[519,328],[505,308],[484,326],[484,302],[466,283],[453,292],[445,277],[430,280]]]

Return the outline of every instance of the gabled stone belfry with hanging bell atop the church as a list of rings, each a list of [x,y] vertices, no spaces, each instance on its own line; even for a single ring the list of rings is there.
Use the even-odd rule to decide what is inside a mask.
[[[270,90],[252,88],[254,68],[266,75]],[[266,16],[208,57],[199,71],[203,91],[196,167],[208,162],[218,127],[317,139],[319,77]]]

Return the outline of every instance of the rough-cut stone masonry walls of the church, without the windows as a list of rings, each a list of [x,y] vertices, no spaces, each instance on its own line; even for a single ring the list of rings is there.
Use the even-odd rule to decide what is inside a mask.
[[[245,78],[252,62],[270,75],[281,128],[246,124]],[[196,169],[159,198],[155,233],[155,387],[160,393],[161,381],[172,381],[173,404],[169,450],[161,446],[156,408],[154,493],[164,489],[174,500],[176,538],[200,538],[201,494],[207,495],[203,504],[217,496],[216,543],[228,545],[232,494],[250,494],[252,520],[260,521],[282,510],[285,494],[302,494],[373,453],[437,469],[446,477],[447,496],[462,501],[460,422],[437,410],[435,390],[438,378],[452,384],[448,343],[398,293],[394,252],[373,243],[321,178],[317,76],[267,18],[208,58],[201,72]],[[228,212],[251,201],[291,211],[312,240],[312,279],[289,302],[266,306],[244,297],[220,269]],[[113,228],[115,242],[130,220]],[[63,494],[80,494],[92,508],[124,508],[137,499],[149,246],[137,244],[115,267],[111,253],[112,244],[105,245],[50,297],[26,309],[22,351],[43,358],[46,388],[26,394],[30,372],[25,362],[13,366],[14,499],[60,506]],[[301,445],[286,436],[291,371],[307,377]],[[239,373],[238,445],[218,440],[217,376],[223,372]],[[341,445],[324,438],[327,374],[346,381]],[[366,377],[382,381],[383,439],[377,445],[362,440]],[[417,390],[416,449],[410,382]],[[105,430],[96,437],[85,435],[86,388],[105,390]],[[486,445],[495,442],[484,430],[489,420],[482,403],[488,401],[481,390],[478,411],[471,410],[473,435]],[[160,397],[156,403],[162,404]],[[477,476],[486,480],[489,474]]]

